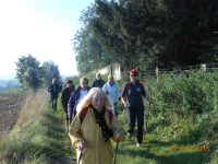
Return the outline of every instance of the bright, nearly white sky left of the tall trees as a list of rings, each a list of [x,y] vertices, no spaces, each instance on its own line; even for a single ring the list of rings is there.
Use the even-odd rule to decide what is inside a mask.
[[[61,75],[77,74],[72,38],[81,11],[94,0],[0,0],[0,80],[15,78],[19,58],[53,61]]]

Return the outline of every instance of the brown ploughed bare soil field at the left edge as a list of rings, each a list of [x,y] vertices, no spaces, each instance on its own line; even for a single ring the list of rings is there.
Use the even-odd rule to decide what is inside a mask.
[[[24,102],[24,94],[0,94],[0,133],[15,125]]]

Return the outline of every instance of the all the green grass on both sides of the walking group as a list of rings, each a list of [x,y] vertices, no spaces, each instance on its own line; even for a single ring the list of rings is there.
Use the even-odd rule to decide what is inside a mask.
[[[68,157],[75,163],[76,155],[65,132],[60,99],[56,114],[52,114],[50,108],[50,105],[45,103],[41,109],[36,108],[40,110],[38,115],[33,115],[26,122],[17,124],[1,139],[0,163],[50,164],[57,163],[61,157]],[[119,143],[117,164],[218,163],[217,138],[205,138],[202,134],[204,121],[199,124],[192,117],[181,117],[173,113],[153,114],[148,106],[145,116],[147,132],[142,147],[135,145],[134,137],[125,137]],[[126,131],[126,112],[120,110],[119,120]],[[116,143],[113,144],[116,147]],[[209,152],[195,149],[205,145],[209,147]]]

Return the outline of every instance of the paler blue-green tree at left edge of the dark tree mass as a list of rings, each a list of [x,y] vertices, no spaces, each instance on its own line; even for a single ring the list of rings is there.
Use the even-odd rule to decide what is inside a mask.
[[[110,65],[111,58],[107,56],[107,51],[101,47],[90,30],[89,19],[93,17],[93,9],[88,8],[83,12],[81,28],[74,36],[74,50],[76,55],[78,72],[84,74],[90,70],[99,69]]]

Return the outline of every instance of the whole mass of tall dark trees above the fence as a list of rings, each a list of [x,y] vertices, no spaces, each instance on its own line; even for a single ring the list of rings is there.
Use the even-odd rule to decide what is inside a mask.
[[[218,61],[216,0],[96,0],[81,20],[75,49],[83,72],[107,61],[124,69]]]

